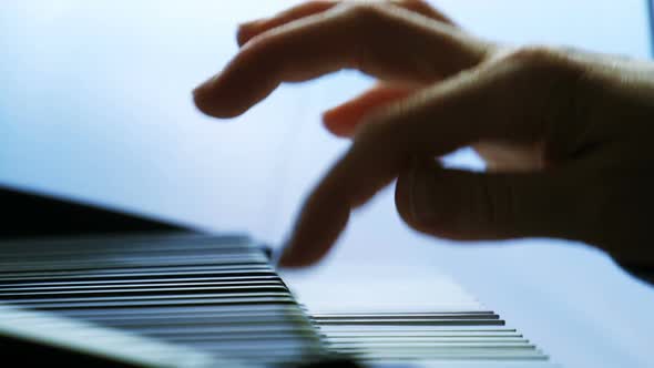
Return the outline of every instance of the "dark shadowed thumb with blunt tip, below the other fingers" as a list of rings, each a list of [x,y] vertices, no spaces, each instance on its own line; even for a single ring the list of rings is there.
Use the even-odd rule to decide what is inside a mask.
[[[450,239],[574,239],[589,218],[576,193],[552,173],[476,173],[415,162],[398,177],[396,206],[409,226]]]

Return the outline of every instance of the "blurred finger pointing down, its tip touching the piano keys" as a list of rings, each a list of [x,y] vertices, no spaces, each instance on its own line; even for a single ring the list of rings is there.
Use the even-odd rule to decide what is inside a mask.
[[[439,94],[453,94],[458,89],[448,89],[448,84],[454,83],[437,86],[437,93],[418,92],[377,116],[368,116],[350,150],[309,195],[279,258],[280,266],[303,267],[323,258],[347,225],[350,211],[388,185],[409,165],[412,155],[440,155],[467,145],[467,137],[477,140],[472,134],[461,134],[460,125],[451,123],[441,125],[441,134],[433,134],[426,127],[427,121],[447,122],[449,117],[452,122],[453,116],[447,116],[448,111],[457,111],[457,120],[473,119],[466,116],[470,110],[457,100],[450,101],[449,106],[430,105],[430,101],[439,100]],[[422,142],[415,136],[421,136]]]

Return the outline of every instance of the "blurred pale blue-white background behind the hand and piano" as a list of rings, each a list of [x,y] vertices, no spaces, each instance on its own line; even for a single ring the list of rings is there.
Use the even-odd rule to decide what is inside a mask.
[[[320,112],[370,80],[340,72],[284,85],[233,121],[202,116],[191,90],[235,53],[237,23],[294,2],[3,2],[0,184],[280,244],[307,191],[348,145],[327,134]],[[486,38],[650,58],[645,1],[435,3]],[[469,152],[453,160],[479,165]],[[446,273],[554,361],[654,366],[654,289],[603,254],[549,239],[426,238],[401,224],[391,194],[354,216],[320,267],[392,260],[416,277]]]

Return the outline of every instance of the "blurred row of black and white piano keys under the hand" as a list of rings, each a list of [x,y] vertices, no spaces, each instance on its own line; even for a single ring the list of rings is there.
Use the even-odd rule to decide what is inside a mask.
[[[54,335],[70,337],[96,326],[82,335],[103,340],[124,333],[130,341],[252,366],[355,359],[372,366],[552,367],[491,310],[310,315],[265,249],[244,236],[0,243],[0,303],[72,324]],[[0,309],[0,317],[8,310]],[[19,328],[21,320],[28,319],[17,319]],[[41,319],[33,320],[24,325]],[[37,329],[47,333],[55,325]],[[109,340],[104,348],[116,356],[125,349],[120,338]],[[129,346],[139,350],[140,344],[145,343]],[[168,359],[167,366],[184,366],[172,361],[185,360]]]

